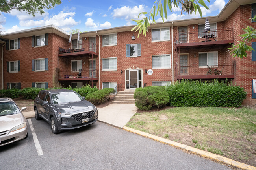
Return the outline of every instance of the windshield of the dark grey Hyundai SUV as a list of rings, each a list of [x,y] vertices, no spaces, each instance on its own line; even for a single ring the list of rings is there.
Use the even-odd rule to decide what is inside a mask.
[[[78,101],[82,101],[82,100],[83,100],[83,98],[74,92],[62,92],[62,93],[52,94],[53,104],[78,102]]]

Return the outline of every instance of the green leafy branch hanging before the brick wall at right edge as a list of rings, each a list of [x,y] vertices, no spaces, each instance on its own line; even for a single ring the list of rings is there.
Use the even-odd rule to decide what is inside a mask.
[[[249,18],[250,21],[256,21],[256,16],[253,18]],[[239,35],[242,38],[242,41],[239,41],[238,44],[231,44],[232,47],[228,48],[229,51],[231,51],[231,54],[233,54],[233,57],[240,57],[241,59],[243,57],[247,57],[247,51],[255,51],[251,46],[248,46],[247,44],[256,38],[256,25],[254,26],[247,26],[247,28],[243,29],[245,32],[244,34]]]

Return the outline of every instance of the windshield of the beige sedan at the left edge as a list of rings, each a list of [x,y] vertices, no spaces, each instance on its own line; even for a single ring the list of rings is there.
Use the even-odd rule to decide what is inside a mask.
[[[0,116],[13,115],[17,113],[20,113],[20,110],[14,102],[0,102]]]

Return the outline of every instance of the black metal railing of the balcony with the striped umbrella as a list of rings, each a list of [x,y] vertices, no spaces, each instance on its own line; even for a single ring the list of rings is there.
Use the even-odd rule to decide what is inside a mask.
[[[208,33],[205,31],[198,31],[192,33],[176,33],[177,43],[191,43],[191,42],[207,42],[220,40],[233,40],[234,28],[214,29]]]

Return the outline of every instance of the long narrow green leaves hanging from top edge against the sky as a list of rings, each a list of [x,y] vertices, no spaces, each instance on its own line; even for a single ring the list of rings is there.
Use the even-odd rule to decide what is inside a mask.
[[[210,0],[207,0],[207,1],[210,2]],[[143,33],[143,35],[146,36],[146,32],[148,32],[148,28],[150,28],[151,20],[152,20],[152,23],[156,24],[155,16],[158,15],[158,12],[160,13],[160,16],[163,22],[164,22],[164,17],[167,19],[167,6],[172,12],[172,7],[179,7],[181,5],[181,14],[182,12],[185,13],[186,11],[188,15],[191,15],[193,12],[195,12],[196,14],[198,11],[200,16],[202,17],[202,11],[199,4],[201,4],[206,9],[209,9],[204,3],[204,0],[157,0],[154,2],[150,12],[139,13],[138,18],[141,14],[146,15],[142,20],[132,19],[133,21],[137,22],[137,25],[131,31],[134,31],[137,28],[135,32],[139,31],[138,38],[141,33]],[[156,9],[157,5],[158,7]]]

